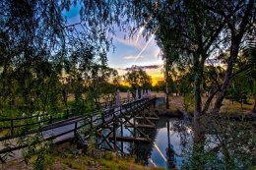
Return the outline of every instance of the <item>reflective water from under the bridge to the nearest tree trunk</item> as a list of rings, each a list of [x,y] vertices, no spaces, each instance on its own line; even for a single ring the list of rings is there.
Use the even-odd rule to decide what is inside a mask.
[[[117,142],[118,150],[133,154],[136,160],[152,167],[177,168],[188,160],[186,153],[192,142],[191,125],[177,118],[161,117],[157,129],[140,129],[154,142]],[[134,129],[117,129],[117,136],[132,137]],[[107,132],[104,132],[105,135]],[[139,136],[137,134],[137,136]],[[106,143],[102,143],[107,147]]]

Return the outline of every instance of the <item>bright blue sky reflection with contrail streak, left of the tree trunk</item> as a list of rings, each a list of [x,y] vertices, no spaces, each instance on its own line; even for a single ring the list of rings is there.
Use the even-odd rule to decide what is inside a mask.
[[[191,127],[179,119],[161,118],[157,124],[157,137],[150,155],[149,166],[180,168],[187,161],[183,153],[192,142]]]

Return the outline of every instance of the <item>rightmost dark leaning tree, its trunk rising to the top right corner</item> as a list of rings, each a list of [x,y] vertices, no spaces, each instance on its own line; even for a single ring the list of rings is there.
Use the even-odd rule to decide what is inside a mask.
[[[253,23],[255,23],[256,20],[255,6],[256,3],[254,0],[219,1],[215,3],[213,7],[208,6],[216,15],[224,17],[226,24],[224,32],[229,36],[227,43],[229,47],[228,63],[224,74],[223,85],[218,92],[215,107],[212,111],[215,114],[221,109],[227,86],[233,74],[233,67],[242,45],[241,42],[255,38],[255,34],[253,34],[255,33]]]

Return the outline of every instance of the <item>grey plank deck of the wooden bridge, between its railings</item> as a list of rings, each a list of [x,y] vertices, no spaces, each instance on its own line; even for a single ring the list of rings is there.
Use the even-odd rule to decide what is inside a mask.
[[[144,99],[136,100],[130,103],[124,103],[118,108],[113,108],[113,107],[104,108],[101,112],[97,112],[96,115],[91,118],[77,116],[77,117],[72,117],[59,122],[55,122],[40,128],[39,134],[42,135],[45,141],[52,140],[53,142],[63,142],[63,141],[71,140],[75,138],[76,132],[79,131],[81,128],[86,126],[89,126],[89,127],[94,126],[96,127],[96,129],[98,129],[102,125],[111,123],[116,118],[129,114],[130,112],[135,111],[136,109],[146,107],[149,102],[152,102],[151,100],[152,99],[144,98]],[[36,133],[32,133],[29,135],[33,135],[33,134],[36,134]],[[11,151],[16,150],[15,157],[13,158],[17,158],[17,155],[20,157],[21,156],[20,149],[23,147],[26,147],[27,145],[18,145],[16,138],[13,138],[13,139],[11,138],[9,140],[12,141],[13,145],[16,145],[10,148]],[[131,139],[128,139],[128,138],[123,138],[123,140],[132,141]],[[137,138],[136,141],[143,142],[145,140],[142,138],[141,139]],[[3,142],[1,142],[0,140],[0,154],[5,152],[7,152],[5,150],[5,146]]]

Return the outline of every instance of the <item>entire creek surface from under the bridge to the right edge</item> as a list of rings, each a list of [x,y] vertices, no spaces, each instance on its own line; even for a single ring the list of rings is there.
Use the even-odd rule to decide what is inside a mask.
[[[140,129],[154,142],[117,142],[119,150],[136,156],[136,160],[152,167],[181,169],[193,166],[191,157],[199,156],[205,169],[250,169],[256,164],[254,122],[208,119],[203,150],[193,151],[191,122],[161,117],[157,129]],[[134,129],[123,127],[123,136],[133,137]],[[121,130],[117,129],[117,136]],[[136,137],[140,137],[139,134]],[[107,145],[106,145],[107,147]],[[196,157],[198,163],[198,157]],[[195,165],[197,167],[197,164]],[[188,169],[188,168],[185,168]]]

